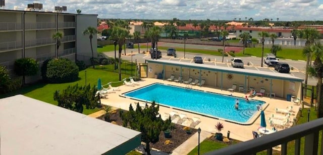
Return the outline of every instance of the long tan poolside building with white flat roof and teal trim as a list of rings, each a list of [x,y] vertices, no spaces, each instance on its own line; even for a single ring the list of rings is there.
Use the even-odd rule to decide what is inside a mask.
[[[291,97],[301,98],[302,78],[292,76],[290,74],[282,74],[276,72],[265,72],[251,69],[228,68],[223,66],[213,66],[207,64],[194,64],[188,62],[178,62],[170,60],[146,60],[147,77],[168,79],[174,75],[174,79],[182,76],[183,81],[189,78],[204,79],[205,86],[215,87],[221,90],[227,90],[237,85],[243,87],[243,93],[249,92],[250,89],[265,89],[264,96],[279,97],[291,100]]]

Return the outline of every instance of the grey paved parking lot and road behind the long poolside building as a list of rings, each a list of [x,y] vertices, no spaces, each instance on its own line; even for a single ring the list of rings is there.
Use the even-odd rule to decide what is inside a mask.
[[[184,47],[183,44],[176,44],[176,43],[158,43],[158,46],[174,47],[174,48],[176,48],[176,47],[183,48]],[[186,44],[186,47],[191,48],[191,49],[194,49],[194,48],[195,49],[214,49],[214,52],[216,52],[216,49],[222,48],[219,46],[193,45],[193,44]],[[146,50],[146,49],[143,49],[143,50]],[[143,51],[143,50],[140,49],[140,51]],[[145,60],[151,59],[149,54],[143,54],[143,53],[138,54],[138,49],[126,49],[127,56],[122,55],[122,59],[131,61],[131,51],[133,51],[133,55],[132,55],[133,61],[137,60],[137,62],[145,62]],[[212,55],[206,55],[206,54],[196,54],[196,53],[185,52],[185,59],[184,59],[184,52],[182,52],[182,51],[176,51],[177,58],[174,58],[173,56],[167,56],[166,50],[161,50],[161,53],[162,53],[161,59],[163,59],[163,60],[194,63],[193,57],[198,55],[203,58],[204,64],[214,65],[214,66],[232,67],[231,63],[230,63],[232,57],[230,57],[230,56],[224,57],[224,63],[222,63],[221,56],[212,56]],[[109,57],[114,57],[113,51],[105,52],[104,54]],[[242,59],[245,64],[244,65],[245,69],[251,69],[251,70],[255,70],[255,71],[260,70],[260,71],[267,71],[267,72],[277,72],[277,71],[275,71],[275,69],[273,67],[267,67],[266,64],[263,64],[263,67],[260,67],[261,58],[259,58],[259,57],[251,56],[251,57],[243,57]],[[210,61],[208,61],[208,60],[210,60]],[[281,59],[280,62],[286,62],[290,65],[291,68],[293,68],[293,70],[291,70],[291,72],[290,72],[291,75],[305,79],[305,66],[306,66],[305,61]],[[248,65],[248,63],[249,63],[249,65]],[[282,73],[282,74],[284,74],[284,73]],[[309,85],[316,85],[316,83],[317,83],[316,79],[314,79],[314,78],[308,79]]]

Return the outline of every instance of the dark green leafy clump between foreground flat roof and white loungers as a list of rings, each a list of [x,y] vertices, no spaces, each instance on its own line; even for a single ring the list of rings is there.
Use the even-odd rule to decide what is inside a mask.
[[[94,109],[98,106],[99,96],[95,95],[97,89],[95,85],[91,88],[87,86],[68,86],[62,91],[56,90],[54,100],[58,101],[58,106],[83,113],[83,108]]]

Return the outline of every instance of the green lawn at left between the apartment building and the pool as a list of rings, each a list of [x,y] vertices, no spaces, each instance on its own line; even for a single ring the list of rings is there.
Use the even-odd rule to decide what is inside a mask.
[[[131,63],[122,63],[122,78],[130,77],[131,74]],[[133,69],[136,70],[135,65],[133,66]],[[127,74],[125,74],[127,73]],[[133,75],[135,75],[135,71],[133,71]],[[86,82],[87,84],[97,85],[97,79],[101,78],[102,85],[107,84],[108,82],[112,81],[119,81],[119,74],[118,70],[113,71],[112,65],[104,65],[104,66],[96,66],[95,69],[89,67],[86,69]],[[53,93],[56,90],[63,90],[69,85],[85,85],[85,70],[79,72],[79,79],[75,82],[70,83],[62,83],[62,84],[46,84],[42,82],[38,82],[36,84],[31,84],[29,86],[25,86],[21,88],[20,90],[0,95],[0,98],[16,95],[16,94],[23,94],[25,96],[38,99],[50,104],[57,105],[58,102],[53,100]],[[119,86],[122,85],[122,82],[119,83],[113,83],[113,86]],[[84,114],[91,114],[93,112],[96,112],[100,109],[86,109],[84,108],[83,113]]]

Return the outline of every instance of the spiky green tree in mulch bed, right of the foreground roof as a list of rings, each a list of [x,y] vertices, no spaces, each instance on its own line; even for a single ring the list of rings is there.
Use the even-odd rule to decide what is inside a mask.
[[[159,141],[159,134],[162,129],[168,128],[166,124],[169,123],[169,120],[163,121],[160,118],[159,105],[156,105],[153,101],[151,106],[146,106],[144,109],[141,109],[139,104],[137,104],[136,111],[133,110],[132,105],[130,104],[129,112],[123,113],[121,116],[124,123],[124,126],[129,124],[132,129],[140,131],[141,141],[146,143],[145,151],[150,155],[150,142],[156,143]],[[159,117],[156,115],[159,114]]]

